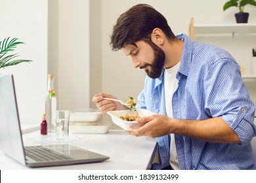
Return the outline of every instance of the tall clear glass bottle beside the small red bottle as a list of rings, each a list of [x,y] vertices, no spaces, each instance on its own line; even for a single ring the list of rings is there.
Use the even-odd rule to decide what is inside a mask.
[[[57,110],[57,99],[56,99],[56,93],[54,90],[54,78],[53,78],[53,75],[48,75],[47,94],[45,97],[45,113],[46,113],[46,120],[48,122],[49,132],[56,131],[56,125],[55,125],[56,110]]]

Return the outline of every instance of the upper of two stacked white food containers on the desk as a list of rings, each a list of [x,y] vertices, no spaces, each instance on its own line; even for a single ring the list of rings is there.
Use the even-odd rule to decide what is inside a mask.
[[[97,109],[81,109],[70,111],[70,122],[96,122],[101,117]]]

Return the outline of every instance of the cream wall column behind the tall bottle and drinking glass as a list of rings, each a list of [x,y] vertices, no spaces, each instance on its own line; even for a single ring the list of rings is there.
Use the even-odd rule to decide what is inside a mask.
[[[89,0],[56,0],[49,5],[54,17],[49,20],[49,71],[55,76],[58,109],[88,108]]]

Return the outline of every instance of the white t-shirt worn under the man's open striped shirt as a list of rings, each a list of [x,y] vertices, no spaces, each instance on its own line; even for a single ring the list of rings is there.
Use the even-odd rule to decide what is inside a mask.
[[[177,72],[179,70],[180,63],[177,63],[175,66],[170,69],[165,69],[164,73],[164,88],[165,88],[165,107],[167,116],[173,118],[173,93],[178,88],[178,80],[176,78]],[[171,133],[171,144],[170,144],[170,165],[173,169],[179,169],[179,161],[177,156],[177,150],[175,145],[174,134]]]

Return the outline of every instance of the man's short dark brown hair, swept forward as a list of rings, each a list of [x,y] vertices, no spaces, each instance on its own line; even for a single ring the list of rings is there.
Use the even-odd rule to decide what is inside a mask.
[[[117,51],[127,44],[136,46],[137,41],[150,42],[150,35],[155,28],[161,29],[169,39],[175,39],[167,20],[160,12],[150,5],[135,5],[117,19],[110,38],[110,46],[112,50]]]

